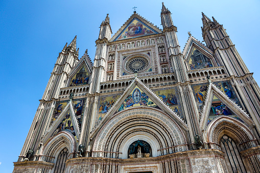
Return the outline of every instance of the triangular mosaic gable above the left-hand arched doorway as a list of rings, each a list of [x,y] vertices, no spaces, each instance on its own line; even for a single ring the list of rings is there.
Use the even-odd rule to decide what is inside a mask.
[[[43,143],[48,142],[52,136],[61,131],[69,132],[75,137],[76,140],[79,139],[80,129],[73,107],[72,101],[69,101],[62,113],[57,117],[49,130],[42,137]]]

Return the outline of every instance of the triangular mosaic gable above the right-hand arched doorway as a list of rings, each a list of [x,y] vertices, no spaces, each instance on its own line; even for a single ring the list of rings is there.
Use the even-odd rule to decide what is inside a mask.
[[[214,110],[212,108],[214,108]],[[222,114],[217,115],[217,111]],[[223,113],[223,111],[225,113]],[[232,116],[244,121],[247,125],[253,123],[249,115],[239,105],[231,101],[230,98],[223,93],[223,91],[219,90],[217,86],[210,83],[200,121],[201,129],[206,129],[207,125],[210,123],[208,120],[210,121],[216,118],[215,116]]]

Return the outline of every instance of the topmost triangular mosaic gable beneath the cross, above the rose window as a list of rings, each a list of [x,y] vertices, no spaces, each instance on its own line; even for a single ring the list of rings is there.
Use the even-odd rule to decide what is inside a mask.
[[[115,33],[111,40],[124,40],[159,33],[162,33],[162,31],[153,26],[152,23],[140,17],[138,14],[133,14],[121,29]]]

